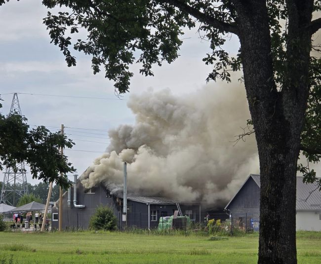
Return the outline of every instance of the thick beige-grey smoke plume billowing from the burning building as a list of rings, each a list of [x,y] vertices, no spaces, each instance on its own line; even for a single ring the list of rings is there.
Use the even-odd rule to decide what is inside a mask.
[[[254,135],[233,143],[250,118],[243,87],[206,86],[186,96],[149,90],[127,106],[135,124],[109,131],[107,152],[81,177],[85,188],[103,183],[121,190],[126,161],[131,194],[217,205],[258,173]]]

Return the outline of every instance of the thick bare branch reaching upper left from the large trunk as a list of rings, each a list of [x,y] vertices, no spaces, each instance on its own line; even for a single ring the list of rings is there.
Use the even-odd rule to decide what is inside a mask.
[[[181,11],[187,12],[188,14],[194,16],[198,20],[200,20],[203,23],[209,24],[213,26],[214,28],[217,28],[221,31],[226,31],[226,32],[231,32],[234,33],[235,35],[239,34],[239,29],[236,26],[236,24],[229,24],[222,22],[214,17],[208,16],[201,11],[193,8],[192,6],[182,2],[181,0],[160,0],[160,2],[165,2],[172,4],[179,8]]]

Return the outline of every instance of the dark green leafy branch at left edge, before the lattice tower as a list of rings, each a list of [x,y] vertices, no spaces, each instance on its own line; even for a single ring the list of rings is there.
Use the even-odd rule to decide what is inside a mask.
[[[0,105],[1,108],[1,105]],[[17,113],[4,116],[0,113],[0,169],[25,161],[30,166],[33,179],[44,183],[55,182],[69,187],[67,177],[60,176],[76,171],[59,148],[72,148],[74,143],[61,132],[51,133],[44,126],[29,130],[27,118]]]

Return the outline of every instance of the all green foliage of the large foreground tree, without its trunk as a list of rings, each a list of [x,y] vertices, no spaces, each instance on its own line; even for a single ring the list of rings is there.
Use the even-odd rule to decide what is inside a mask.
[[[178,51],[182,44],[180,38],[187,27],[198,26],[201,38],[208,40],[211,48],[211,52],[203,58],[205,64],[213,66],[207,81],[217,78],[231,81],[230,73],[239,71],[244,66],[241,48],[235,52],[235,56],[222,48],[228,34],[238,35],[240,29],[237,4],[230,0],[131,0],[117,1],[117,4],[114,0],[42,2],[48,8],[59,5],[71,10],[58,12],[56,15],[48,12],[44,19],[51,42],[60,47],[68,66],[76,65],[76,58],[70,51],[73,45],[72,37],[79,33],[78,28],[85,28],[88,32],[87,38],[76,38],[74,49],[92,55],[94,74],[103,69],[105,76],[115,81],[115,89],[119,93],[129,90],[130,78],[133,75],[129,67],[133,63],[140,63],[141,74],[153,75],[153,65],[161,66],[163,61],[174,61],[179,56]],[[272,90],[276,92],[282,92],[284,87],[287,89],[291,85],[298,86],[300,82],[297,77],[290,77],[293,69],[301,69],[303,63],[303,55],[289,56],[289,52],[300,50],[299,37],[293,37],[292,33],[288,32],[290,5],[290,2],[284,0],[266,2],[271,38],[266,41],[270,45],[273,64],[273,75],[267,81],[273,83]],[[314,11],[320,11],[321,1],[316,0],[312,7]],[[264,17],[265,14],[260,15]],[[305,19],[308,19],[308,16]],[[311,92],[301,134],[301,150],[308,164],[298,165],[298,170],[304,174],[306,182],[317,180],[315,171],[309,168],[309,162],[316,163],[321,157],[320,46],[315,45],[313,40],[311,43],[314,54],[310,57],[307,77]],[[309,48],[307,46],[307,49]],[[301,79],[302,77],[303,75]],[[319,187],[321,188],[320,180]]]

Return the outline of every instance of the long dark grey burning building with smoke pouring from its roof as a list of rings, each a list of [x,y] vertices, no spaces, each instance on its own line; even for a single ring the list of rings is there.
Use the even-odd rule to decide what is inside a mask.
[[[63,229],[87,229],[90,217],[95,213],[97,206],[109,206],[118,219],[118,226],[122,228],[123,199],[122,193],[111,194],[103,185],[84,189],[77,181],[77,203],[74,204],[74,186],[63,194]],[[132,196],[127,195],[127,226],[139,228],[156,228],[160,217],[171,216],[177,209],[177,202],[165,197]],[[52,228],[58,229],[59,202],[52,208]],[[82,207],[83,208],[77,208]],[[179,202],[183,215],[189,216],[196,223],[201,221],[201,205]]]

